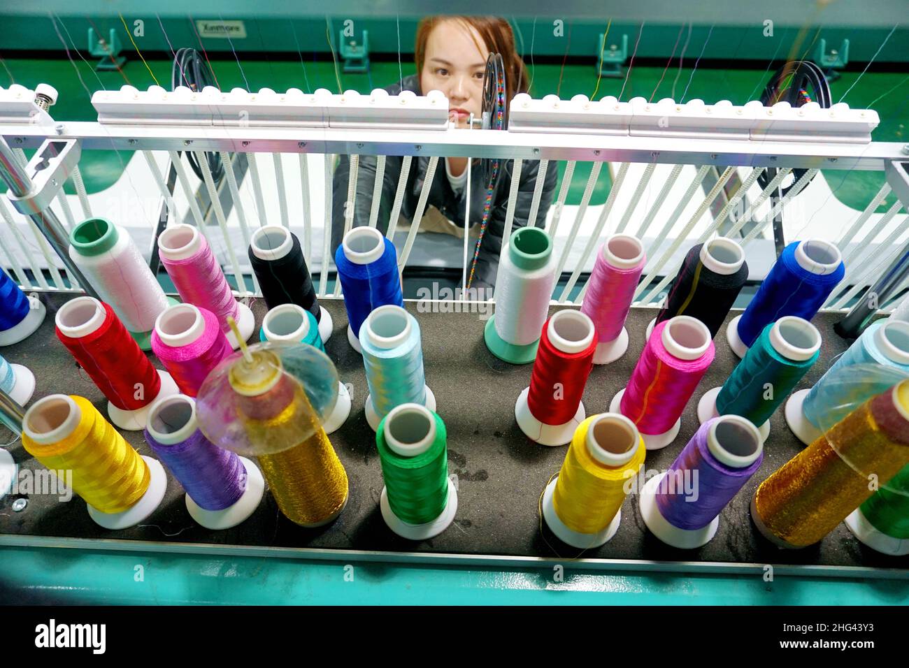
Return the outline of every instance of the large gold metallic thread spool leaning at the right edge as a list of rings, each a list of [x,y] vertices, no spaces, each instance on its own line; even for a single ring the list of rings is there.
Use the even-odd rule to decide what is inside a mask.
[[[817,543],[909,464],[909,381],[877,394],[760,484],[754,525],[787,548]]]

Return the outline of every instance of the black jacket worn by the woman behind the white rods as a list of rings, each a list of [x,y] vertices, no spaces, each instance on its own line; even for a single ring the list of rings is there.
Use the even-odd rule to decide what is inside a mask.
[[[402,90],[420,92],[420,82],[416,75],[410,75],[395,85],[385,88],[389,95],[398,95]],[[435,168],[435,178],[429,191],[429,204],[434,204],[439,211],[449,220],[461,227],[464,226],[464,190],[455,195],[445,174],[444,158],[440,158]],[[391,214],[392,204],[395,202],[398,179],[401,175],[403,158],[400,155],[389,155],[385,160],[385,178],[382,184],[382,202],[379,205],[377,226],[383,233],[388,229],[388,217]],[[369,214],[372,209],[373,188],[375,185],[375,155],[361,155],[360,166],[356,179],[356,207],[354,211],[354,226],[369,224]],[[472,161],[474,163],[474,161]],[[420,191],[426,176],[426,167],[429,158],[415,156],[411,163],[410,174],[407,177],[404,201],[401,204],[401,214],[407,220],[413,220],[416,204],[420,198]],[[539,169],[538,160],[524,160],[521,165],[521,184],[518,188],[517,202],[514,207],[514,227],[527,224],[530,215],[530,205],[534,199],[534,186],[536,174]],[[493,207],[489,216],[483,243],[480,245],[480,255],[476,261],[474,274],[474,287],[492,287],[495,284],[495,273],[498,269],[499,252],[502,249],[502,234],[504,232],[505,214],[508,207],[508,193],[511,189],[511,176],[514,161],[508,160],[500,163],[499,175],[493,194]],[[332,258],[335,250],[341,244],[345,225],[345,202],[347,199],[347,182],[350,178],[350,160],[347,155],[340,156],[340,163],[335,169],[334,195],[332,207]],[[546,170],[543,193],[540,197],[540,208],[536,215],[535,226],[544,227],[546,213],[553,202],[555,184],[558,178],[556,165],[550,165]],[[471,224],[483,220],[483,205],[488,184],[484,183],[483,166],[480,161],[471,165],[470,186],[470,211]],[[470,245],[468,262],[473,260],[474,244]],[[459,254],[460,256],[460,254]],[[469,272],[469,269],[468,269]]]

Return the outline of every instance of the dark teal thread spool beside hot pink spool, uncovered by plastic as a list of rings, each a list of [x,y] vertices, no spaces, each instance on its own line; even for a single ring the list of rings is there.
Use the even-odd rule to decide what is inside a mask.
[[[764,327],[722,387],[704,393],[697,404],[697,419],[704,424],[717,415],[741,415],[758,425],[762,442],[766,441],[770,416],[820,354],[821,333],[814,324],[784,315]]]

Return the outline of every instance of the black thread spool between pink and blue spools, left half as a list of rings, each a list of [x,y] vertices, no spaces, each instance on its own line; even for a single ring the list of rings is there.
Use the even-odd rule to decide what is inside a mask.
[[[249,240],[249,262],[269,309],[297,304],[313,314],[322,343],[334,329],[332,314],[319,304],[300,240],[286,227],[265,225]]]

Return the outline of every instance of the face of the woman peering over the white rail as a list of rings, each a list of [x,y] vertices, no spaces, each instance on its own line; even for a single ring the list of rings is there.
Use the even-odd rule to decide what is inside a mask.
[[[474,27],[456,21],[435,25],[426,40],[420,88],[424,95],[431,90],[445,94],[448,117],[458,127],[467,127],[470,115],[478,119],[483,111],[483,75],[489,51],[478,49],[477,44],[482,45],[483,39]]]

